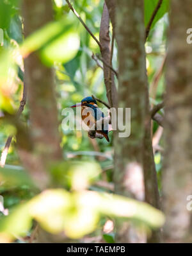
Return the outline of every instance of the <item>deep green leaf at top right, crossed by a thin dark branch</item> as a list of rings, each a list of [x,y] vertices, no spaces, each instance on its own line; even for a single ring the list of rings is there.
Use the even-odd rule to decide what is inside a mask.
[[[157,3],[159,0],[145,0],[144,2],[144,12],[145,12],[145,26],[147,26],[150,18],[152,17],[152,13],[156,9]],[[169,10],[170,1],[163,0],[161,7],[159,8],[154,21],[152,22],[151,28],[153,28],[159,19],[163,17],[163,15]]]

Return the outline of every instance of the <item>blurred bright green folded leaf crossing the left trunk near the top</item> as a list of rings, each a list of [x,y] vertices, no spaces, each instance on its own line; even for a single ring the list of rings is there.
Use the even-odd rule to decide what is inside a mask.
[[[21,53],[27,56],[33,51],[39,51],[42,62],[47,65],[65,63],[76,56],[79,44],[73,19],[61,19],[29,35],[21,46]]]

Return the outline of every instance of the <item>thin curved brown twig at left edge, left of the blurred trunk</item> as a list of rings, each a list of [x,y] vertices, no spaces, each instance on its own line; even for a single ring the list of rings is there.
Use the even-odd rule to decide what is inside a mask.
[[[25,83],[23,84],[23,93],[22,93],[22,100],[20,101],[20,106],[19,109],[17,110],[16,117],[19,118],[20,115],[22,114],[22,111],[24,110],[24,106],[26,105],[26,98],[27,98],[27,89]],[[9,136],[8,139],[6,140],[6,144],[4,146],[4,149],[1,153],[1,160],[0,160],[0,166],[4,167],[5,162],[6,162],[6,157],[8,155],[8,150],[10,148],[10,145],[12,143],[12,136]]]

